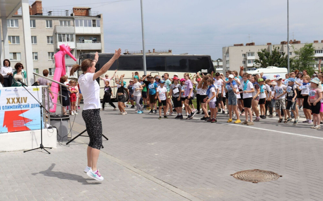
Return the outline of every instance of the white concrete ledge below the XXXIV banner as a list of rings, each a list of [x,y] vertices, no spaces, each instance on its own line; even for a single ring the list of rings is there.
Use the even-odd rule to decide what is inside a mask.
[[[0,151],[29,150],[40,146],[40,129],[33,131],[0,133]],[[57,146],[56,129],[43,129],[44,147]]]

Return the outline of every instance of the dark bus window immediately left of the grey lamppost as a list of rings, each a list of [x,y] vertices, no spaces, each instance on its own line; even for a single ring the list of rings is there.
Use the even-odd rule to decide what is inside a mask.
[[[142,57],[119,57],[118,70],[143,70]]]

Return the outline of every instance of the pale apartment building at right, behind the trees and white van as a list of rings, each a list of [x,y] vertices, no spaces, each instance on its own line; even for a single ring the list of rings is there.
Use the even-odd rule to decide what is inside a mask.
[[[301,47],[304,47],[306,43],[301,43],[301,41],[290,40],[289,41],[289,56],[290,58],[295,56],[294,50],[299,50]],[[315,47],[315,60],[323,60],[323,40],[321,42],[314,41],[313,45]],[[272,45],[267,43],[266,45],[255,45],[254,42],[234,44],[233,46],[223,47],[223,70],[236,70],[239,72],[240,66],[243,66],[245,70],[253,68],[255,65],[255,59],[259,59],[257,52],[261,49],[266,49],[268,52],[274,50],[274,47],[279,47],[279,51],[282,54],[285,52],[287,55],[287,41],[282,41],[280,44]],[[285,66],[278,66],[285,67]],[[318,64],[315,66],[318,68]],[[323,67],[323,64],[321,64]],[[287,66],[286,66],[287,68]]]

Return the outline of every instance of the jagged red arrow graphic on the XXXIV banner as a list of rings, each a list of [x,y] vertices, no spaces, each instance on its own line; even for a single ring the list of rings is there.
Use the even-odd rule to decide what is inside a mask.
[[[30,130],[27,126],[25,126],[25,123],[31,122],[32,120],[23,116],[19,116],[26,111],[28,110],[5,111],[3,127],[7,127],[8,132]]]

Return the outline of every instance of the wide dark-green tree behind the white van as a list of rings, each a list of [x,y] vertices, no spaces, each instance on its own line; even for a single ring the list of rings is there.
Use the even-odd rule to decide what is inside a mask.
[[[257,52],[259,59],[255,59],[256,68],[266,68],[268,66],[287,68],[287,55],[285,52],[280,54],[279,47],[274,47],[274,50],[268,52],[266,49],[261,49]]]

